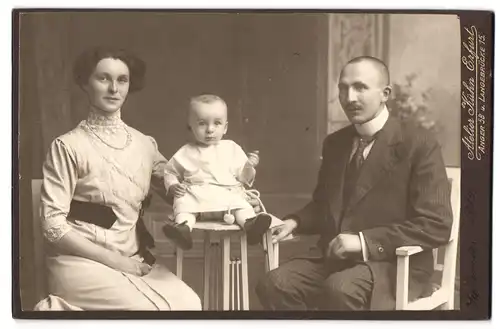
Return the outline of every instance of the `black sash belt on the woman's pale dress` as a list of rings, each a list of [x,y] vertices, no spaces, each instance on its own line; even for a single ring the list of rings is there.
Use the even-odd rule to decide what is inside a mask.
[[[150,265],[155,263],[155,258],[148,249],[154,248],[153,236],[148,232],[144,224],[144,210],[149,207],[151,194],[141,204],[139,218],[137,220],[137,238],[139,240],[139,254],[144,257],[144,262]],[[84,201],[72,200],[68,218],[76,219],[82,222],[97,225],[99,227],[110,229],[116,222],[117,217],[111,207]]]

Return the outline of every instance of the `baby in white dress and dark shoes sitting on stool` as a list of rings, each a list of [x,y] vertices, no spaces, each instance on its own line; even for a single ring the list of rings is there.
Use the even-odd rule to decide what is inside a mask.
[[[165,188],[174,196],[174,222],[164,234],[182,249],[191,249],[191,231],[201,213],[234,214],[245,230],[248,244],[257,244],[271,224],[271,216],[256,215],[248,203],[244,185],[252,186],[258,152],[249,153],[231,140],[227,132],[227,105],[215,95],[191,99],[189,129],[193,141],[181,147],[165,168]]]

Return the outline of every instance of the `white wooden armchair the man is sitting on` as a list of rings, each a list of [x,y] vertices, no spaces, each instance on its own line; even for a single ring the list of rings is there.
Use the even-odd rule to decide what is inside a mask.
[[[441,308],[452,310],[455,297],[455,274],[457,268],[458,233],[460,226],[460,168],[446,168],[451,181],[451,206],[453,225],[449,242],[443,246],[444,262],[438,264],[438,249],[433,250],[434,271],[442,272],[441,285],[431,296],[408,300],[408,275],[410,256],[422,251],[418,246],[405,246],[396,249],[396,310],[433,310]]]

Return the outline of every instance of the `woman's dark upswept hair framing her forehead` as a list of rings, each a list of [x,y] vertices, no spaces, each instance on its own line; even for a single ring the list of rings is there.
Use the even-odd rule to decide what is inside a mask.
[[[87,49],[76,59],[73,65],[73,78],[80,87],[89,82],[97,63],[104,58],[119,59],[124,62],[130,72],[129,93],[139,91],[144,87],[146,64],[137,56],[120,48],[95,47]]]

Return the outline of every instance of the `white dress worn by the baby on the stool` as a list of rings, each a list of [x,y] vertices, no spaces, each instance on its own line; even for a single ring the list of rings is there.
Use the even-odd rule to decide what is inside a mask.
[[[174,200],[174,216],[252,208],[243,185],[252,186],[255,169],[244,177],[247,161],[243,149],[232,140],[182,146],[165,167],[167,191],[179,182],[188,186],[184,196]]]

